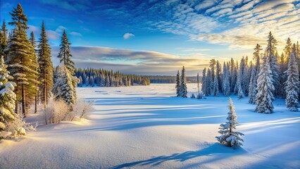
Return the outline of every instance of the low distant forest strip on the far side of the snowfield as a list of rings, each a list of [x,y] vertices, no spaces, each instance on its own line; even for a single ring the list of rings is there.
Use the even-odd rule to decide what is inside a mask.
[[[75,75],[79,78],[78,87],[122,87],[136,84],[149,85],[148,77],[142,75],[126,75],[113,70],[95,68],[77,68]]]

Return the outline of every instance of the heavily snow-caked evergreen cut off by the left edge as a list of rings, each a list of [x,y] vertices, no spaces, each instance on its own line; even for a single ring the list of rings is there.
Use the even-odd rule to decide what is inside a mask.
[[[0,135],[4,131],[9,122],[15,119],[15,82],[11,82],[13,77],[6,70],[7,65],[4,64],[4,57],[0,60]],[[1,139],[1,137],[0,137]]]

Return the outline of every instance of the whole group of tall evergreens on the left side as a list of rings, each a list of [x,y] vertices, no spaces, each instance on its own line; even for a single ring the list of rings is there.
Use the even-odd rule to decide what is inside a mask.
[[[4,20],[0,31],[0,137],[1,132],[11,131],[11,124],[15,126],[15,121],[22,119],[18,115],[20,111],[25,117],[34,104],[36,113],[37,104],[46,108],[51,96],[64,101],[72,110],[77,97],[75,87],[79,82],[65,31],[57,56],[61,65],[54,70],[44,22],[36,42],[33,32],[27,36],[28,20],[22,6],[18,4],[10,14],[12,21],[8,24],[13,29],[8,33]],[[23,123],[20,125],[15,126],[13,134],[24,133],[24,130],[20,131]]]

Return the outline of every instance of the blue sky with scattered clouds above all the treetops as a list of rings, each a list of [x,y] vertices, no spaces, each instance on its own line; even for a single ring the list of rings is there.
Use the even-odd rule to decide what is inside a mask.
[[[287,37],[300,39],[299,0],[1,0],[1,20],[19,2],[37,38],[44,20],[54,64],[66,30],[82,68],[175,75],[185,65],[196,75],[211,58],[251,58],[269,31],[280,53]]]

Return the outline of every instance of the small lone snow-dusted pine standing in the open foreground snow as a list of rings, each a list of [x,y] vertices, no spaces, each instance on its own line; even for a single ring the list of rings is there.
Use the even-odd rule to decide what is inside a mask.
[[[235,113],[235,107],[233,106],[232,99],[229,99],[229,112],[225,124],[221,124],[219,133],[221,134],[218,137],[215,137],[218,142],[225,144],[226,146],[242,146],[244,140],[240,137],[243,136],[242,132],[236,132],[237,126],[237,115]]]

